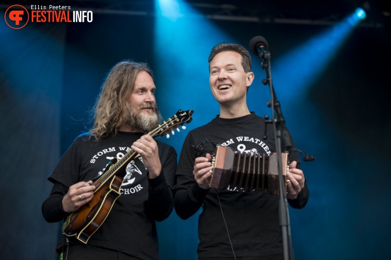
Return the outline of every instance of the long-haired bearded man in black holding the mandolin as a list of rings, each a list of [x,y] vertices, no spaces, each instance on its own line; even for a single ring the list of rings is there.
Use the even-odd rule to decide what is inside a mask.
[[[59,222],[95,201],[100,193],[94,180],[110,169],[113,159],[129,152],[141,155],[120,168],[126,177],[117,188],[121,195],[110,204],[111,210],[102,204],[100,213],[106,219],[100,227],[86,239],[79,239],[79,233],[62,236],[57,252],[63,259],[158,258],[155,221],[166,219],[173,209],[177,154],[146,134],[162,118],[155,89],[148,64],[126,60],[113,66],[91,110],[93,126],[75,139],[49,175],[54,186],[42,204],[42,215],[48,222]]]

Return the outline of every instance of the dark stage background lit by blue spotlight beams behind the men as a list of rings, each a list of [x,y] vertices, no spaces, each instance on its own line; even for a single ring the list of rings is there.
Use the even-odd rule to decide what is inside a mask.
[[[209,89],[208,56],[214,45],[227,41],[247,47],[252,37],[261,35],[269,43],[273,73],[273,64],[291,50],[363,4],[208,1],[214,6],[206,8],[200,5],[204,2],[188,1],[194,12],[182,10],[182,17],[169,21],[156,15],[153,2],[133,1],[130,7],[127,2],[108,3],[45,3],[95,10],[91,23],[30,23],[13,30],[0,21],[0,259],[56,259],[60,225],[46,223],[40,212],[52,187],[46,178],[85,131],[88,110],[116,62],[148,62],[155,72],[162,115],[194,110],[189,130],[219,112]],[[366,3],[371,7],[367,19],[339,48],[325,48],[331,59],[315,79],[304,73],[311,72],[304,65],[306,51],[273,74],[297,148],[316,156],[302,164],[311,194],[307,206],[289,209],[296,259],[388,258],[391,31],[384,11],[390,10],[381,2]],[[12,4],[1,4],[1,13]],[[96,11],[126,8],[125,13]],[[143,8],[148,11],[133,12]],[[226,19],[217,19],[212,11]],[[332,16],[330,23],[314,24],[327,15]],[[303,20],[312,24],[294,22]],[[252,60],[256,80],[248,92],[249,108],[270,115],[261,60],[255,55]],[[284,81],[288,72],[295,82]],[[297,82],[305,87],[292,87]],[[178,154],[188,130],[166,140]],[[173,212],[158,223],[158,235],[159,259],[195,259],[197,216],[183,221]]]

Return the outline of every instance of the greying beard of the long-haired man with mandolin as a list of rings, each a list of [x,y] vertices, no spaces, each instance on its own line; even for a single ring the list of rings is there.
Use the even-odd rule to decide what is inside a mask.
[[[143,109],[152,109],[147,115],[142,113]],[[142,105],[137,111],[132,111],[129,103],[126,102],[127,116],[125,117],[125,123],[130,124],[135,128],[142,129],[144,132],[150,132],[155,129],[159,122],[162,121],[162,115],[157,105],[148,104]]]

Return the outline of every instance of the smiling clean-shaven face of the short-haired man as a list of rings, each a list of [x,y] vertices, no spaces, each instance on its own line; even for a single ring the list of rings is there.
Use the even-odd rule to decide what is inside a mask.
[[[209,70],[211,91],[220,106],[246,105],[247,88],[254,80],[254,73],[244,71],[239,53],[222,51],[210,62]]]

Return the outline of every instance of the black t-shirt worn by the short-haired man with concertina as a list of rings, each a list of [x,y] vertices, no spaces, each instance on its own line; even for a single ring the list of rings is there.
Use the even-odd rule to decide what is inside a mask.
[[[207,152],[213,154],[212,142],[232,147],[236,151],[268,156],[275,151],[273,133],[272,125],[254,113],[235,119],[217,116],[210,123],[189,132],[176,171],[174,201],[176,213],[183,219],[195,214],[202,206],[198,222],[199,258],[233,256],[227,229],[236,256],[282,253],[279,196],[267,191],[244,192],[229,187],[224,190],[202,190],[193,176],[195,158],[205,156]],[[282,144],[282,151],[284,149]],[[289,161],[300,163],[296,152],[290,152]],[[308,188],[305,186],[298,199],[288,201],[291,206],[301,208],[305,206],[308,196]]]

